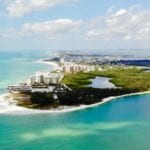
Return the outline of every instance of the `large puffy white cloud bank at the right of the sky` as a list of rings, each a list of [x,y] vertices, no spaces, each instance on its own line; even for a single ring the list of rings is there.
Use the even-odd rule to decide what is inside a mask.
[[[140,9],[140,11],[139,9],[140,6],[133,6],[107,14],[101,23],[97,21],[98,24],[89,29],[87,36],[103,40],[116,38],[123,40],[150,39],[150,9]]]

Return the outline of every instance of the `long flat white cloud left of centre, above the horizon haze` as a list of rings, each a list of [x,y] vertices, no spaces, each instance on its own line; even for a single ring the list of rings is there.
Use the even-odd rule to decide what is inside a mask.
[[[5,37],[10,36],[39,36],[47,38],[55,38],[56,36],[66,35],[72,32],[78,32],[81,20],[57,19],[37,23],[25,23],[21,29],[10,30],[5,33]],[[11,33],[11,34],[10,34]]]

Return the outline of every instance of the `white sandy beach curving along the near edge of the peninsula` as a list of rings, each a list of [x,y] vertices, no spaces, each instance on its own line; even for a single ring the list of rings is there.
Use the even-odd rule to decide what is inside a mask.
[[[24,107],[17,106],[15,102],[13,102],[12,98],[10,97],[10,94],[3,94],[0,96],[0,114],[9,114],[9,115],[28,115],[28,114],[42,114],[42,113],[66,113],[66,112],[73,112],[78,111],[82,109],[87,109],[91,107],[97,107],[102,104],[105,104],[112,100],[119,100],[121,97],[128,97],[128,96],[134,96],[134,95],[142,95],[142,94],[149,94],[150,91],[147,92],[139,92],[139,93],[133,93],[133,94],[126,94],[122,96],[115,96],[115,97],[108,97],[104,98],[101,102],[91,104],[91,105],[80,105],[80,106],[60,106],[57,109],[50,109],[50,110],[39,110],[39,109],[28,109]],[[9,97],[9,99],[6,100],[6,97]],[[1,108],[2,107],[2,108]]]

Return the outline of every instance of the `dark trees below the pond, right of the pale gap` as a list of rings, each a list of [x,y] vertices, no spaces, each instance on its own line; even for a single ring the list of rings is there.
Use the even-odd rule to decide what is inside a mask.
[[[67,93],[59,93],[58,100],[60,105],[90,105],[102,101],[103,98],[135,93],[132,89],[95,89],[95,88],[74,88]]]

